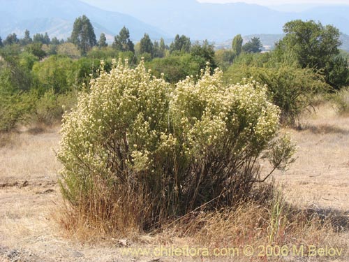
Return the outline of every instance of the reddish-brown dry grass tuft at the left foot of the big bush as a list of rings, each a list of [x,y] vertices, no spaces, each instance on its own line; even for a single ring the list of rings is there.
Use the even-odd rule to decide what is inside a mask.
[[[100,242],[107,238],[130,238],[131,235],[142,233],[139,225],[143,223],[140,219],[147,212],[143,209],[146,200],[142,196],[128,192],[122,194],[123,198],[115,198],[108,191],[98,193],[100,191],[96,195],[91,194],[91,199],[87,201],[89,208],[72,208],[67,202],[57,208],[59,215],[54,219],[59,222],[66,235],[82,242]],[[110,205],[107,203],[111,199],[114,199],[115,204],[109,210]],[[108,217],[98,217],[98,214]]]

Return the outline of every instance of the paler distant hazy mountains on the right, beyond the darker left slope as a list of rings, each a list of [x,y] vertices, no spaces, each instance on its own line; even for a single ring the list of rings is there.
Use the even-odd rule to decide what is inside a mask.
[[[247,3],[199,3],[195,0],[82,0],[138,17],[148,24],[194,40],[225,41],[236,34],[282,34],[290,20],[315,20],[334,24],[349,34],[349,6],[308,5],[285,12]],[[242,0],[243,1],[243,0]],[[302,5],[300,5],[302,6]],[[283,10],[288,10],[284,8]]]

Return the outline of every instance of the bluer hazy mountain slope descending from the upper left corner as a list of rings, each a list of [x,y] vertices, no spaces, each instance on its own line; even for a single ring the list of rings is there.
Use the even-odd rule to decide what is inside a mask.
[[[29,29],[31,34],[47,33],[50,37],[67,38],[76,17],[87,15],[94,25],[98,39],[104,32],[112,39],[126,26],[131,38],[140,39],[144,32],[151,38],[166,36],[164,31],[119,12],[111,12],[89,6],[78,0],[0,0],[0,36],[5,38],[15,32],[18,36]]]

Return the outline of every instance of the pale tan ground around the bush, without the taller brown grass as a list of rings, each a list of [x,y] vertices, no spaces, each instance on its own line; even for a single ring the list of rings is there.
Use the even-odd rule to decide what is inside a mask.
[[[121,253],[129,244],[124,240],[95,245],[65,238],[53,219],[61,203],[60,165],[54,154],[58,131],[13,133],[10,143],[0,147],[0,262],[195,261],[125,256]],[[349,211],[349,117],[339,117],[330,106],[322,106],[317,114],[302,119],[300,130],[288,132],[297,142],[297,161],[274,175],[288,201],[303,208]],[[349,242],[348,233],[341,238]],[[145,241],[143,246],[151,244]]]

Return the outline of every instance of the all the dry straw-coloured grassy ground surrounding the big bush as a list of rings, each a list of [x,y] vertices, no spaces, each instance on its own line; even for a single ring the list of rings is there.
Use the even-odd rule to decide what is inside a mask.
[[[349,233],[334,220],[348,221],[349,118],[330,105],[302,119],[302,129],[287,130],[298,144],[297,161],[274,175],[281,195],[237,209],[192,213],[154,235],[128,233],[129,247],[242,247],[244,245],[318,245],[343,248],[341,257],[246,257],[233,261],[349,261]],[[159,257],[122,256],[124,241],[80,223],[79,231],[56,223],[61,203],[53,149],[57,129],[20,131],[0,147],[0,261],[151,261]],[[267,170],[267,168],[265,168]],[[268,201],[269,199],[269,201]],[[288,205],[290,204],[290,205]],[[310,212],[318,212],[311,217]],[[273,211],[274,210],[274,211]],[[68,211],[68,210],[67,210]],[[330,214],[335,212],[335,216]],[[325,218],[329,215],[332,219]],[[337,216],[337,217],[336,217]],[[337,219],[338,221],[338,219]],[[74,223],[74,221],[68,221]],[[342,221],[339,221],[340,223]],[[345,225],[345,223],[343,224]],[[343,228],[346,229],[346,228]],[[74,235],[70,235],[74,233]],[[85,240],[77,242],[76,240]],[[89,240],[89,241],[86,241]],[[94,242],[92,242],[94,240]],[[2,259],[2,260],[1,260]],[[162,257],[160,261],[232,261],[231,257]]]

